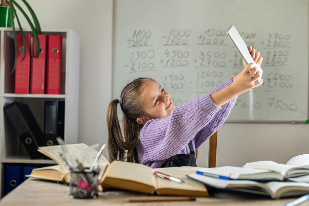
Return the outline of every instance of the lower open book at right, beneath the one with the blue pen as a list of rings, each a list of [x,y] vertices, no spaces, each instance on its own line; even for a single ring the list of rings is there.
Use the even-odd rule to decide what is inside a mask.
[[[200,175],[189,174],[188,177],[204,183],[207,187],[220,190],[248,192],[270,196],[272,199],[291,197],[309,193],[309,183],[305,182],[256,182],[251,180],[227,180]]]

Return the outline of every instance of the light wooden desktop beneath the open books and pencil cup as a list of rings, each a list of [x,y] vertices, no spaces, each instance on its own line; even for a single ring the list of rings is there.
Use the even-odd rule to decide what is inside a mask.
[[[196,201],[152,202],[152,203],[124,203],[130,197],[145,196],[143,194],[125,191],[108,191],[99,193],[97,199],[69,199],[69,187],[53,182],[28,179],[20,186],[3,197],[0,206],[284,206],[294,199],[270,200],[266,198],[252,198],[246,195],[229,197],[229,194],[220,194],[212,198],[196,198]],[[302,206],[305,206],[303,204]]]

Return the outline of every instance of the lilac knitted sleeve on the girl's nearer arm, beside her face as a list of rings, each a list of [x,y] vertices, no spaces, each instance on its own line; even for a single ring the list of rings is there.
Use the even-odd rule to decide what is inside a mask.
[[[149,120],[140,132],[139,162],[147,165],[177,154],[219,110],[208,94],[176,106],[169,117]]]

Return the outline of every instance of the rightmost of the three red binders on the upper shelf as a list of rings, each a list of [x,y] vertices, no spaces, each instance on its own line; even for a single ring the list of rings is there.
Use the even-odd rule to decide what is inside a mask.
[[[47,36],[46,94],[61,94],[62,36]]]

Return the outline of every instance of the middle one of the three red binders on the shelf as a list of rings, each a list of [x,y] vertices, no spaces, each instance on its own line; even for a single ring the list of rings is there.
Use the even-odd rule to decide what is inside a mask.
[[[45,89],[45,59],[46,59],[46,35],[39,35],[40,54],[36,56],[36,41],[33,38],[33,55],[31,65],[31,80],[30,80],[30,93],[31,94],[44,94]]]

